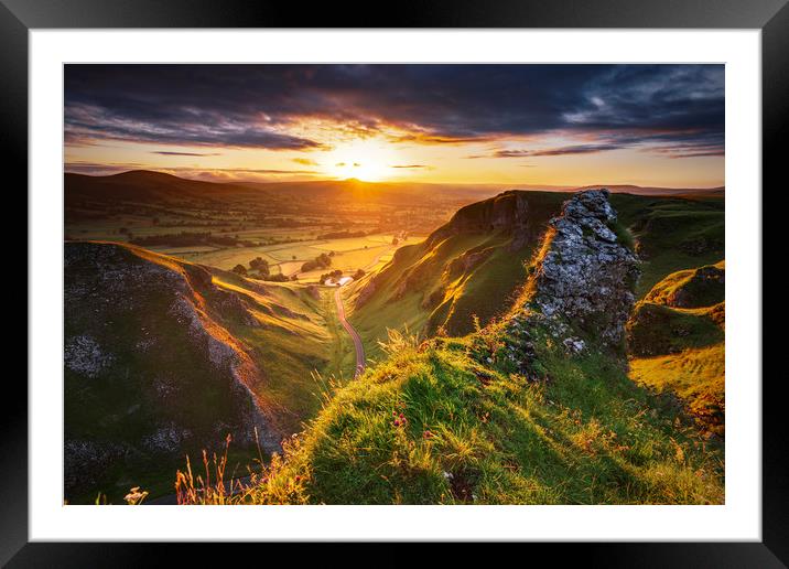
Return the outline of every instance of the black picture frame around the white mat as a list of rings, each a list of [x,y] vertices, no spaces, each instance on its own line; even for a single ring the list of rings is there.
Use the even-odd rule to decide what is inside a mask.
[[[780,187],[780,142],[789,125],[788,0],[452,0],[342,7],[245,0],[0,0],[0,140],[4,163],[28,172],[28,33],[85,28],[629,28],[759,29],[763,77],[763,185]],[[305,8],[309,7],[309,8]],[[763,190],[754,189],[758,198]],[[22,207],[25,207],[24,205]],[[763,227],[766,226],[763,219]],[[744,229],[744,230],[747,230]],[[765,241],[765,245],[768,245]],[[768,257],[769,258],[769,257]],[[763,275],[764,278],[764,275]],[[30,284],[30,283],[29,283]],[[35,299],[28,296],[28,304]],[[35,337],[29,337],[35,342]],[[763,348],[764,353],[764,348]],[[763,382],[763,541],[533,544],[530,549],[605,567],[786,567],[789,565],[785,374]],[[28,539],[28,394],[6,374],[0,421],[0,565],[142,567],[164,560],[163,545],[31,544]],[[758,380],[759,378],[745,378]],[[18,393],[8,387],[15,383]],[[248,547],[239,544],[234,547]],[[275,548],[267,546],[267,558]],[[463,549],[460,549],[462,551]],[[240,550],[238,550],[240,551]],[[180,563],[205,561],[205,548],[180,546]],[[290,554],[291,556],[293,554]],[[519,554],[523,555],[523,554]],[[531,555],[529,552],[528,555]],[[159,560],[159,562],[154,562]]]

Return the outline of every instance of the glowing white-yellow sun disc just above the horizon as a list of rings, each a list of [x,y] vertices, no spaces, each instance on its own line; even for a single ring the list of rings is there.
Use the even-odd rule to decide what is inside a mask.
[[[333,178],[379,182],[392,175],[394,157],[391,143],[367,139],[343,143],[328,151],[321,162]]]

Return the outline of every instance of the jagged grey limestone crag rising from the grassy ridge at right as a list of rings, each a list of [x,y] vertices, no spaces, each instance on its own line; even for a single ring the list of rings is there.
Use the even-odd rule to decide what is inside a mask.
[[[616,212],[608,195],[607,190],[581,192],[551,219],[531,304],[559,321],[560,330],[569,324],[615,347],[624,339],[640,270],[613,230]]]

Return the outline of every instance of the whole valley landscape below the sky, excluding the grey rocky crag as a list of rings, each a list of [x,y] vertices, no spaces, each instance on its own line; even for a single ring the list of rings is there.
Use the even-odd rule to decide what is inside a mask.
[[[576,194],[89,178],[66,174],[69,503],[172,494],[228,432],[247,503],[721,500],[721,292],[677,292],[723,270],[720,193],[606,196],[616,215],[588,227],[638,257],[636,347],[576,356],[542,323],[510,342]],[[531,367],[499,359],[510,344]]]

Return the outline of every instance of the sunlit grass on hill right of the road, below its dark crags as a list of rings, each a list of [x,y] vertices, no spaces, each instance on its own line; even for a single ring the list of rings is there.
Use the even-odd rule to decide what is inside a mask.
[[[538,224],[558,214],[569,197],[560,192],[525,194],[529,196],[529,208],[539,219]],[[355,283],[346,293],[349,319],[359,331],[368,355],[374,358],[381,355],[378,343],[386,341],[388,329],[430,336],[443,328],[450,334],[463,335],[474,329],[475,315],[482,324],[487,324],[505,313],[527,277],[527,264],[538,239],[527,241],[515,251],[509,249],[510,243],[509,235],[486,232],[464,232],[437,243],[429,237],[397,251],[376,277],[375,294],[358,309],[354,305],[371,276]],[[468,270],[447,272],[450,264],[464,253],[486,248],[493,251],[482,262]],[[413,278],[406,293],[398,298],[398,287],[410,272],[418,272],[419,277]],[[440,300],[429,302],[435,291]]]

